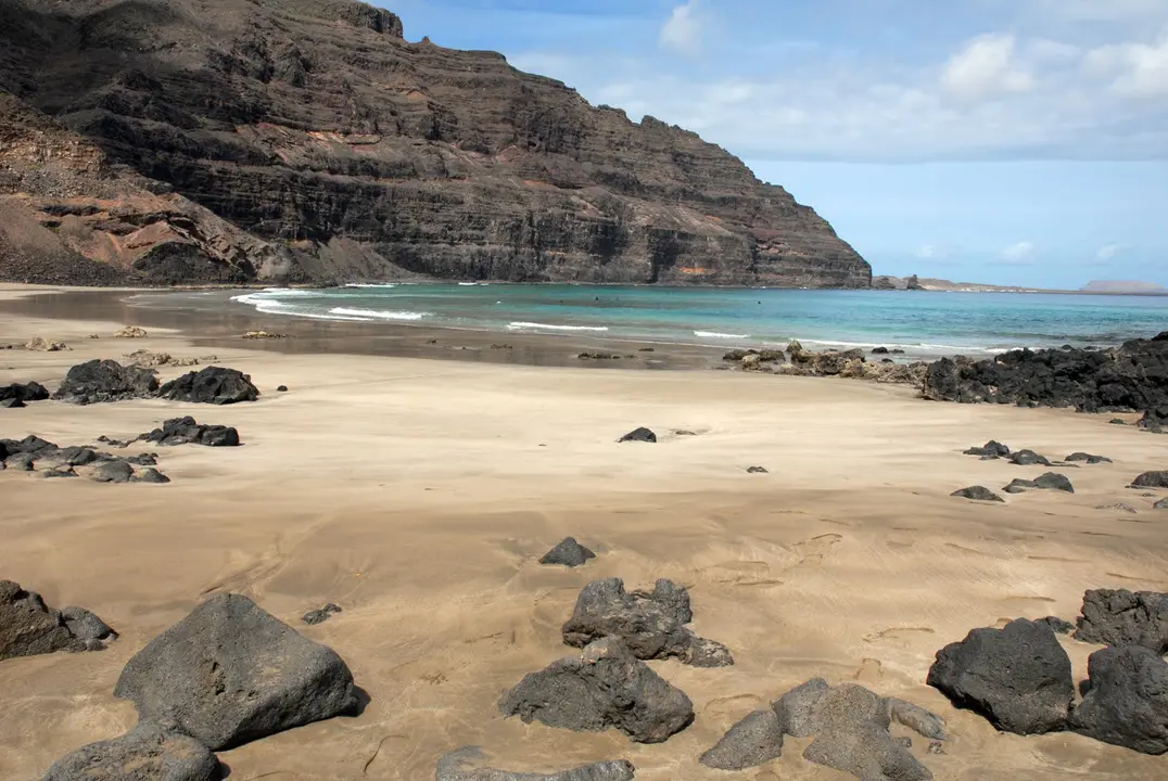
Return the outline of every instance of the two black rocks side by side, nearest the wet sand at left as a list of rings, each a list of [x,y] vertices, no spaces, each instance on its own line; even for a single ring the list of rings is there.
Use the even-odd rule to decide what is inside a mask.
[[[151,368],[123,365],[117,361],[88,361],[69,369],[53,398],[72,404],[121,402],[132,398],[165,398],[196,404],[255,402],[259,390],[236,369],[206,367],[165,385]]]

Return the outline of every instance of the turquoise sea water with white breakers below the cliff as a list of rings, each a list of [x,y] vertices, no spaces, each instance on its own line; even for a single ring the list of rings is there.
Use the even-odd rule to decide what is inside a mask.
[[[232,306],[290,318],[728,347],[899,348],[909,355],[1114,344],[1168,330],[1168,298],[579,285],[269,288]]]

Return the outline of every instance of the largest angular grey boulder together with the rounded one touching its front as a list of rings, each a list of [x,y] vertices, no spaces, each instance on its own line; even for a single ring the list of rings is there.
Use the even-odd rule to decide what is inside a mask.
[[[138,651],[114,697],[133,702],[126,734],[61,758],[44,781],[222,776],[213,752],[354,714],[362,696],[345,661],[246,597],[214,597]]]

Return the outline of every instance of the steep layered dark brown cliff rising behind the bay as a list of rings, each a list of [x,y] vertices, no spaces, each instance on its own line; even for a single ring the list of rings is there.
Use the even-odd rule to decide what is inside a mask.
[[[736,158],[350,0],[0,0],[0,277],[868,287]]]

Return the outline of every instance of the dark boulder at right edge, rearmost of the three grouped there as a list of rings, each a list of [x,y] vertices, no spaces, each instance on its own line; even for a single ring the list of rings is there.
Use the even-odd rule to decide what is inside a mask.
[[[1075,639],[1168,654],[1168,594],[1096,588],[1083,594]]]

